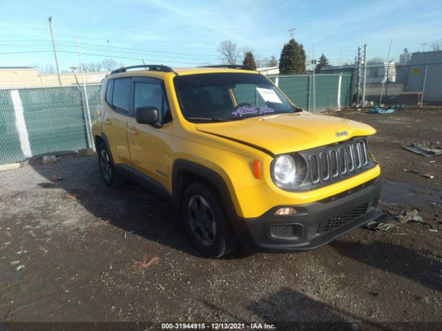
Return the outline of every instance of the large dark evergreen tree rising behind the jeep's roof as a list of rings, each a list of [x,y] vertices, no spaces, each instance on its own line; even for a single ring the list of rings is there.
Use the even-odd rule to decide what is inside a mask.
[[[303,74],[305,73],[305,50],[304,46],[291,39],[282,48],[279,60],[280,74]]]

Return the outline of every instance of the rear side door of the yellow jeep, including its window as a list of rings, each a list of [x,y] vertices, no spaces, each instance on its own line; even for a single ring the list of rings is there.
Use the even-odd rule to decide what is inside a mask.
[[[132,78],[109,79],[106,87],[106,112],[102,132],[106,134],[113,161],[117,165],[131,164],[127,141],[127,123],[131,116]]]

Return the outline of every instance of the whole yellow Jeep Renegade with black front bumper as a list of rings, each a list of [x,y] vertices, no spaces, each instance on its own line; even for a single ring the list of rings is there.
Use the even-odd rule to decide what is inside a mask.
[[[162,194],[209,257],[309,250],[379,217],[374,133],[297,108],[244,66],[115,70],[93,123],[104,182]]]

